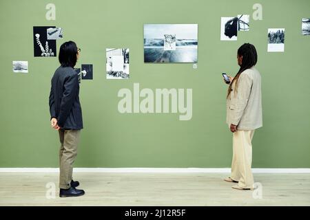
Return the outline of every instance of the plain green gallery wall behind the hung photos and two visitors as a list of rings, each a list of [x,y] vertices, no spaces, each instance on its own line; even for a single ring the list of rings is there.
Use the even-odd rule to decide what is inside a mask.
[[[56,5],[56,21],[45,5]],[[220,41],[220,17],[253,14],[238,41]],[[32,27],[56,25],[81,47],[94,80],[81,83],[84,127],[76,167],[230,167],[232,135],[225,124],[222,72],[238,71],[236,50],[253,43],[262,74],[263,127],[253,140],[254,168],[310,168],[310,36],[301,19],[310,1],[0,1],[0,167],[57,167],[59,139],[50,128],[48,96],[58,57],[33,56]],[[198,23],[198,68],[143,63],[143,24]],[[267,29],[285,28],[285,52],[267,52]],[[130,48],[130,80],[105,79],[105,48]],[[307,55],[308,52],[308,55]],[[12,72],[28,61],[29,73]],[[118,90],[193,89],[193,117],[176,113],[118,113]]]

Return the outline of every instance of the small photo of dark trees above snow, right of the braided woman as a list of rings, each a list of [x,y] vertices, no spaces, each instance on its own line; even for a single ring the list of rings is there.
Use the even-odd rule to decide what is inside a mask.
[[[268,52],[284,52],[285,28],[268,29]]]

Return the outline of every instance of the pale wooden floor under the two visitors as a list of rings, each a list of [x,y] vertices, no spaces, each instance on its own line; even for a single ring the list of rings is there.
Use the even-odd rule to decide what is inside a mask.
[[[234,190],[229,174],[76,173],[85,195],[59,198],[57,173],[0,173],[0,206],[310,206],[310,174],[254,174],[258,191]],[[46,184],[56,197],[46,197]],[[50,193],[48,193],[50,195]]]

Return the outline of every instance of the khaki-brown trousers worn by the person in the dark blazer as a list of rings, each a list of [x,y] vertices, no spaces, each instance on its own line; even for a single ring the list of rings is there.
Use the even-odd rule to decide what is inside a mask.
[[[74,159],[77,155],[81,130],[59,130],[59,188],[70,188]]]

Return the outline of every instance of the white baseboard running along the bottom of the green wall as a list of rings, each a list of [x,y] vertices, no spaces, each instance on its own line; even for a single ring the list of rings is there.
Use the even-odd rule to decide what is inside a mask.
[[[253,173],[310,173],[310,168],[252,168]],[[230,173],[230,168],[74,168],[74,173]],[[59,173],[59,168],[0,168],[0,173]]]

